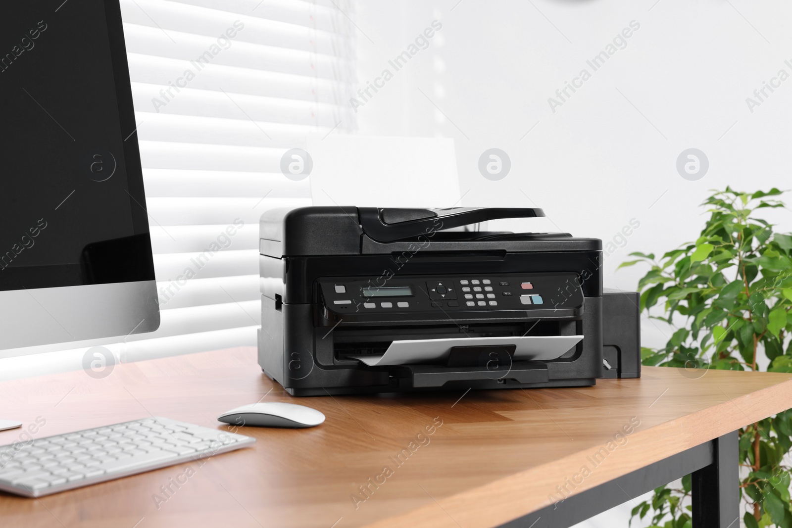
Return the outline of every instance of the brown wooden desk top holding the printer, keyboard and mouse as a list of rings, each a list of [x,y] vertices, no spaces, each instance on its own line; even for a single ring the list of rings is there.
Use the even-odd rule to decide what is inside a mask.
[[[565,484],[575,495],[557,511],[584,507],[576,497],[608,507],[604,490],[620,478],[629,488],[615,503],[646,491],[647,476],[695,461],[700,469],[710,457],[706,464],[716,463],[699,475],[717,493],[718,475],[736,478],[736,447],[729,454],[728,442],[710,441],[792,407],[792,376],[711,370],[696,379],[645,368],[641,379],[577,389],[293,398],[261,374],[253,348],[237,348],[119,365],[103,379],[78,371],[0,383],[4,417],[46,420],[36,437],[150,415],[222,428],[220,412],[261,398],[310,405],[327,420],[304,430],[242,428],[257,438],[253,448],[192,463],[189,477],[177,465],[40,500],[0,493],[2,526],[473,528],[523,517],[508,526],[527,527],[532,511],[545,515],[535,528],[560,526],[546,524],[547,512]],[[0,432],[0,444],[20,435]],[[718,460],[728,471],[718,473]]]

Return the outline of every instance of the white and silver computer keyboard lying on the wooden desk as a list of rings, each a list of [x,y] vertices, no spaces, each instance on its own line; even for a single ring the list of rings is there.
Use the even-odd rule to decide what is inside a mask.
[[[145,418],[0,446],[0,490],[40,497],[211,457],[256,439],[168,418]]]

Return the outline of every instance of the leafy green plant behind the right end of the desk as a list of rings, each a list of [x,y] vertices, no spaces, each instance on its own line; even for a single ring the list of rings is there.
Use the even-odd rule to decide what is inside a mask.
[[[695,243],[659,258],[630,253],[638,259],[619,266],[649,265],[638,283],[641,309],[674,329],[664,348],[642,348],[644,365],[683,367],[690,376],[710,368],[792,372],[792,234],[775,233],[757,216],[784,207],[773,198],[781,194],[776,188],[714,192],[703,202],[709,218]],[[792,528],[790,448],[792,410],[740,431],[748,528]],[[689,528],[690,492],[689,475],[680,488],[657,488],[651,500],[634,507],[630,525],[638,518],[650,526]]]

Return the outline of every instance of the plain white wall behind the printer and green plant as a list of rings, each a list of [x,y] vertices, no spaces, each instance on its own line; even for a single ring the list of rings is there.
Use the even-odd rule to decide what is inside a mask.
[[[434,19],[443,28],[428,48],[394,71],[388,59]],[[462,192],[470,190],[463,205],[543,207],[549,218],[525,230],[607,241],[635,218],[638,229],[606,259],[607,285],[635,287],[642,268],[615,272],[631,251],[695,240],[709,189],[792,183],[792,79],[753,112],[746,104],[779,70],[792,74],[789,2],[359,0],[355,20],[359,82],[394,73],[357,108],[360,133],[454,138]],[[640,28],[626,47],[592,70],[586,61],[631,21]],[[552,112],[548,97],[584,68],[591,78]],[[503,180],[478,173],[491,147],[511,158]],[[697,181],[676,170],[691,147],[710,162]],[[438,196],[437,205],[451,203]],[[792,230],[788,211],[766,218]],[[658,346],[665,337],[645,324],[643,340]],[[633,505],[600,525],[626,526]]]

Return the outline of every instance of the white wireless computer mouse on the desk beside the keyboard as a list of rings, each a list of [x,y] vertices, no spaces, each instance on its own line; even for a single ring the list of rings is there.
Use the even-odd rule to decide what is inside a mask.
[[[325,415],[305,405],[268,401],[232,408],[217,419],[238,427],[314,427],[325,421]]]

